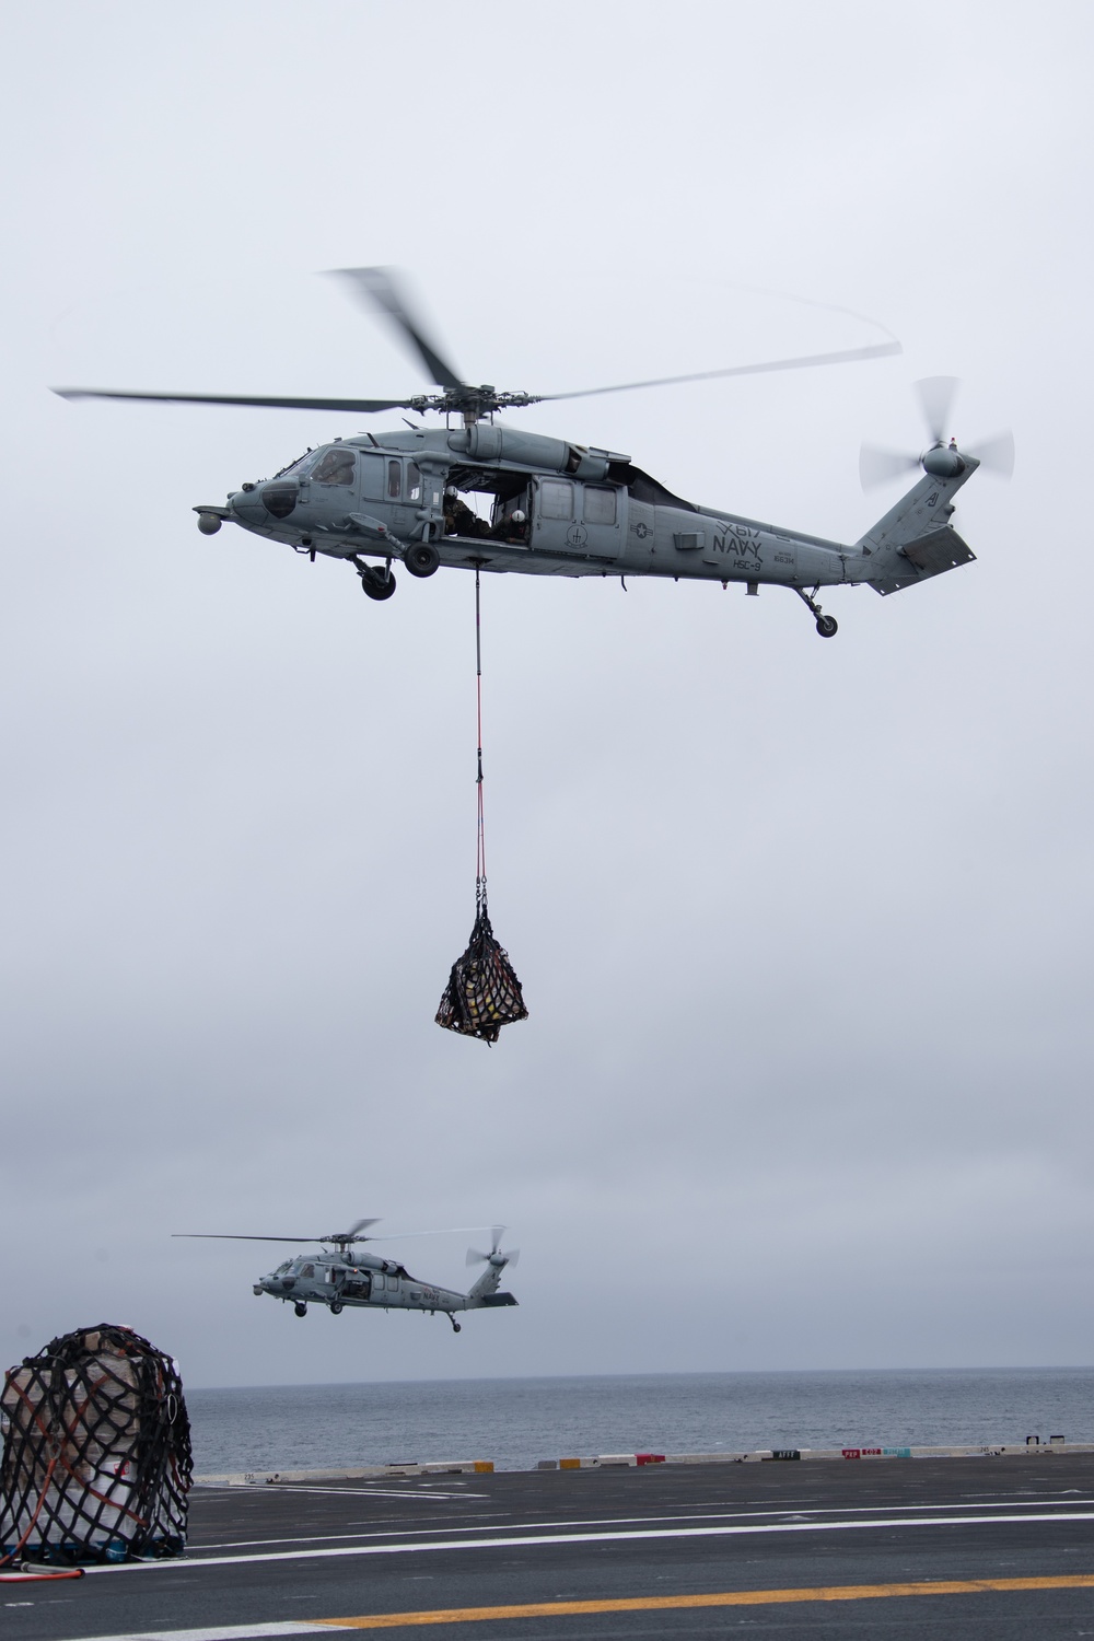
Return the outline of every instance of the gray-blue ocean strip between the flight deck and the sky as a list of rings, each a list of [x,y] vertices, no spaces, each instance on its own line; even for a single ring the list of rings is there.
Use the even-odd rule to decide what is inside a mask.
[[[635,1374],[192,1390],[197,1474],[1094,1439],[1094,1369]]]

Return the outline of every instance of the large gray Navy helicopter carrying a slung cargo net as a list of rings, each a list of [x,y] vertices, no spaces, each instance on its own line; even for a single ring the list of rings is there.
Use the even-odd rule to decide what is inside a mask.
[[[238,523],[299,553],[348,560],[371,599],[395,591],[392,565],[410,576],[441,566],[535,576],[661,576],[787,587],[809,607],[822,638],[836,622],[817,602],[822,587],[871,586],[899,592],[968,565],[974,555],[953,530],[953,497],[981,463],[1009,471],[1009,433],[979,450],[946,445],[950,377],[920,382],[930,448],[920,455],[863,451],[863,482],[919,469],[917,484],[855,545],[827,542],[674,496],[620,451],[500,425],[499,412],[592,394],[676,382],[841,364],[900,353],[899,341],[840,353],[620,382],[571,394],[499,392],[474,387],[438,353],[384,267],[341,269],[353,292],[374,305],[407,340],[443,391],[407,399],[276,399],[231,394],[123,392],[57,387],[66,399],[143,399],[171,404],[274,405],[292,410],[440,412],[444,428],[407,423],[389,433],[356,433],[299,456],[269,481],[246,482],[223,507],[198,504],[198,530],[215,535]],[[453,418],[459,425],[453,428]],[[469,505],[466,497],[479,502]],[[381,560],[369,563],[367,560]]]

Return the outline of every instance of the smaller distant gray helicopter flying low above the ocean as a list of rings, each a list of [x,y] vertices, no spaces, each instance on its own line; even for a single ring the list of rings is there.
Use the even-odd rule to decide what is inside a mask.
[[[412,1277],[399,1260],[381,1259],[379,1254],[349,1252],[359,1242],[394,1242],[397,1237],[372,1237],[361,1232],[379,1219],[358,1219],[348,1231],[333,1236],[238,1236],[231,1232],[175,1231],[174,1236],[220,1242],[323,1242],[321,1254],[300,1254],[287,1259],[276,1270],[254,1283],[254,1293],[271,1293],[289,1305],[297,1316],[308,1314],[308,1305],[325,1305],[331,1316],[340,1316],[346,1305],[384,1311],[440,1311],[448,1316],[453,1332],[459,1332],[454,1311],[497,1310],[517,1305],[512,1293],[500,1293],[502,1272],[515,1265],[520,1249],[502,1252],[505,1226],[494,1226],[490,1249],[482,1254],[467,1249],[467,1265],[484,1264],[485,1270],[467,1293],[440,1288],[431,1282]],[[474,1227],[472,1227],[474,1229]],[[408,1232],[410,1236],[438,1236],[440,1232]]]

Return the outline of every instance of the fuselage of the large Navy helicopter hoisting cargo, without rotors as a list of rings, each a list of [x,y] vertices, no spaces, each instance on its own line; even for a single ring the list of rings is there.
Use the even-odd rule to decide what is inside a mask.
[[[233,492],[226,507],[195,512],[205,533],[230,520],[312,558],[351,560],[362,573],[364,558],[389,568],[402,558],[418,576],[444,565],[735,581],[750,591],[869,583],[891,592],[973,558],[948,519],[950,496],[976,458],[932,456],[933,469],[855,546],[699,507],[628,456],[492,422],[336,440]],[[477,512],[466,496],[482,499]]]

